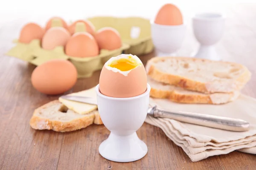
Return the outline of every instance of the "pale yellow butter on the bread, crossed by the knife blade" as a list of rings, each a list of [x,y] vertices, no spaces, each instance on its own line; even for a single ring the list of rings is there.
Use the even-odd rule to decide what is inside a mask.
[[[85,91],[80,91],[77,93],[69,94],[69,96],[83,96],[83,97],[91,97],[94,99],[97,98],[96,91],[95,91],[94,87],[90,88],[88,90],[85,90]],[[98,108],[96,105],[90,105],[90,104],[81,103],[81,102],[74,102],[74,101],[70,101],[67,99],[62,99],[61,97],[58,100],[61,103],[63,103],[65,106],[67,106],[67,108],[69,108],[70,110],[73,110],[79,114],[87,114],[87,113],[90,113],[91,111],[94,111]]]

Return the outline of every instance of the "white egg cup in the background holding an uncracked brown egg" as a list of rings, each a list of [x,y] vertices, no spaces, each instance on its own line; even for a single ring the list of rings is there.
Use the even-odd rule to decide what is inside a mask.
[[[151,37],[157,56],[176,56],[186,34],[186,25],[165,26],[151,20]]]

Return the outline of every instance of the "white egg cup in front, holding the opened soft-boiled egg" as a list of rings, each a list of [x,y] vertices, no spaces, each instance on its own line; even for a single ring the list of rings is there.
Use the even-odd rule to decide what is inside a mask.
[[[103,124],[111,131],[108,139],[99,146],[105,159],[116,162],[131,162],[143,158],[147,145],[139,139],[136,131],[147,116],[150,85],[145,93],[128,98],[115,98],[100,93],[96,86],[98,110]]]

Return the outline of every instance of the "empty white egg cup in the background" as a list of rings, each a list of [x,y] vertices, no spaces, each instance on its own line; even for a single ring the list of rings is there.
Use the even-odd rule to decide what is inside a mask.
[[[196,58],[221,60],[214,45],[221,40],[224,23],[225,17],[218,13],[201,13],[193,17],[194,34],[201,44]]]

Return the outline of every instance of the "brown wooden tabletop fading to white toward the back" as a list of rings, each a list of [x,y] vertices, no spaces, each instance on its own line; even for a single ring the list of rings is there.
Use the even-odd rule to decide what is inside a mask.
[[[252,79],[242,90],[256,97],[256,5],[248,4],[227,9],[226,32],[217,45],[224,60],[240,62],[252,72]],[[11,25],[10,25],[11,24]],[[109,131],[104,125],[91,125],[68,133],[34,130],[29,119],[35,108],[58,99],[36,91],[30,82],[35,68],[19,59],[7,57],[17,23],[0,27],[0,170],[253,170],[256,156],[234,151],[227,155],[212,156],[192,162],[181,149],[169,140],[163,131],[146,123],[137,131],[148,145],[147,155],[138,161],[117,163],[100,156],[99,144],[107,139]],[[8,34],[9,33],[9,34]],[[3,38],[4,37],[4,38]],[[7,45],[6,45],[7,44]],[[179,51],[189,55],[198,47],[191,28]],[[154,53],[141,56],[145,63]],[[97,85],[100,71],[93,77],[79,79],[68,93]]]

